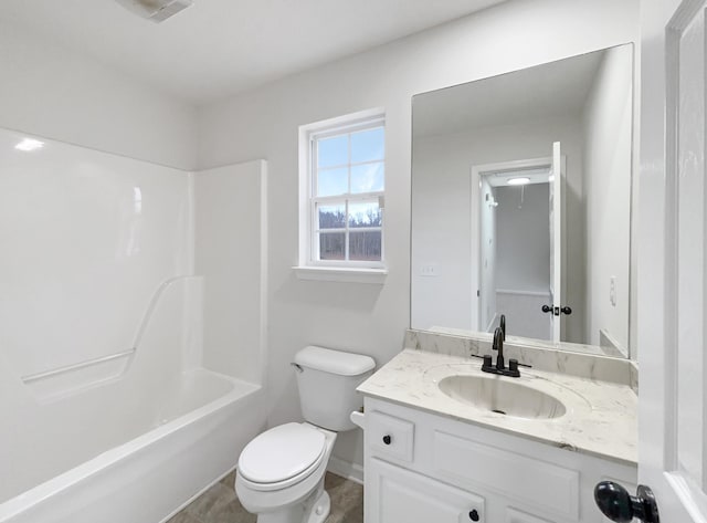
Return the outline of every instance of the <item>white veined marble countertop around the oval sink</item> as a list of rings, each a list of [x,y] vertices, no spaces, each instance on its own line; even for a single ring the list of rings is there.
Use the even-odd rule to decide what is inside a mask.
[[[367,396],[420,408],[562,449],[635,466],[637,397],[627,385],[520,368],[520,378],[481,370],[482,360],[405,348],[363,381]],[[567,412],[552,419],[524,419],[453,399],[437,384],[446,376],[477,375],[511,380],[561,400]]]

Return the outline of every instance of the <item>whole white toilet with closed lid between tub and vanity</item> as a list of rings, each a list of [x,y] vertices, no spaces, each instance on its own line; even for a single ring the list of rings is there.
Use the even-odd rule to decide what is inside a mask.
[[[235,492],[258,523],[321,523],[329,515],[324,474],[337,432],[356,426],[363,404],[356,387],[376,366],[369,356],[305,347],[295,355],[304,423],[257,436],[239,458]]]

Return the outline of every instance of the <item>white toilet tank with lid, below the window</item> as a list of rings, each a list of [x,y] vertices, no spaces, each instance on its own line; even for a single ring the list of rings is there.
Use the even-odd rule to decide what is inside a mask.
[[[356,387],[373,373],[373,358],[308,346],[295,355],[295,366],[305,420],[337,432],[356,428],[349,416],[363,405]]]

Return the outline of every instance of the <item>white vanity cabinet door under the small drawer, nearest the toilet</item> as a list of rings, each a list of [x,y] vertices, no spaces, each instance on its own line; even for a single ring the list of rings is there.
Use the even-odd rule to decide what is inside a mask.
[[[366,523],[485,523],[484,499],[379,459],[366,469]]]

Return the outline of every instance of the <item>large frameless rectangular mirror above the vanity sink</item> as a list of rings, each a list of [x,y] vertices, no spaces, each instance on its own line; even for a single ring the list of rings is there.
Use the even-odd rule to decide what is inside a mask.
[[[633,45],[412,104],[411,327],[629,355]]]

